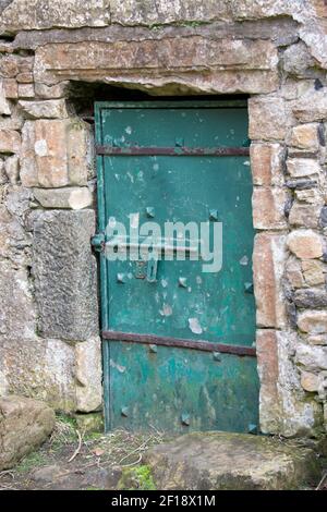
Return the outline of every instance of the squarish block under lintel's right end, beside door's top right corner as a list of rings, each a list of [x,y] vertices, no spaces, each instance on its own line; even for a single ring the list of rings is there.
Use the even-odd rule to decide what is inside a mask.
[[[254,141],[279,141],[287,135],[290,117],[278,97],[254,97],[249,100],[249,136]]]

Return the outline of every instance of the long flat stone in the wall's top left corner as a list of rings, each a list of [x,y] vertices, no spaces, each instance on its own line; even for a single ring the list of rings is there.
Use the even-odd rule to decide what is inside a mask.
[[[1,27],[19,32],[52,26],[104,26],[110,22],[109,0],[13,0],[2,12]],[[37,13],[37,15],[36,15]]]

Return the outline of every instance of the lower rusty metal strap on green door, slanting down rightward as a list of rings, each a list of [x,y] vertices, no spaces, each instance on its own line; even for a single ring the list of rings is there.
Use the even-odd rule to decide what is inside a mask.
[[[169,338],[155,334],[137,334],[133,332],[121,331],[102,331],[104,340],[122,341],[126,343],[143,343],[162,346],[171,346],[173,349],[191,349],[202,352],[220,352],[225,354],[233,354],[240,356],[256,356],[256,350],[253,346],[230,345],[225,343],[213,343],[204,340],[185,340],[181,338]]]

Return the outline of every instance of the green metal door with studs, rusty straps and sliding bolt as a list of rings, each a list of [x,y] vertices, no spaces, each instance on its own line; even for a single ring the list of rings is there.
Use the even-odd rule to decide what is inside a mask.
[[[97,102],[96,143],[106,429],[254,430],[246,103]],[[128,231],[147,222],[150,248]],[[189,222],[222,225],[221,268],[204,271]]]

